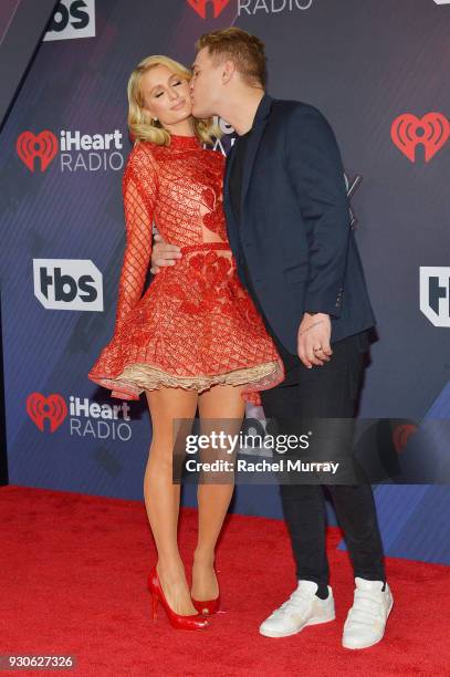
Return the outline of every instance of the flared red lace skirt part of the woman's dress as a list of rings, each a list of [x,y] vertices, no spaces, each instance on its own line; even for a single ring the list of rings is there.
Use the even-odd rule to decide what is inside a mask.
[[[284,379],[283,362],[242,287],[230,247],[208,242],[181,248],[137,305],[116,324],[88,378],[113,397],[138,399],[163,386],[196,389],[243,385],[242,397]]]

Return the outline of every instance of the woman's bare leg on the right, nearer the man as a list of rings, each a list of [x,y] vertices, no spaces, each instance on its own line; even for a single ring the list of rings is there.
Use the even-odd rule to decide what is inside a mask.
[[[238,435],[245,414],[245,403],[241,397],[242,386],[213,386],[199,395],[199,414],[201,434],[226,431]],[[208,420],[209,419],[209,420]],[[216,420],[211,420],[216,419]],[[228,419],[228,420],[226,420]],[[211,449],[202,452],[202,460],[216,458],[232,459],[226,450]],[[233,476],[216,476],[223,483],[207,483],[198,486],[198,541],[193,554],[192,597],[195,600],[213,600],[219,594],[218,582],[213,570],[214,549],[233,494]],[[214,476],[210,478],[214,481]]]

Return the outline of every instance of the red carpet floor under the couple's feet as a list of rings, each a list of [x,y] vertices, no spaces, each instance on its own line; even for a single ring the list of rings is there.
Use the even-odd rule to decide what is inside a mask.
[[[282,521],[230,515],[217,556],[227,613],[189,633],[171,629],[161,606],[150,619],[155,551],[143,502],[2,487],[0,514],[0,655],[77,657],[76,669],[55,675],[450,675],[447,566],[388,559],[385,639],[349,652],[341,633],[353,579],[337,529],[328,537],[337,621],[270,639],[258,626],[296,584]],[[187,565],[196,520],[181,511]]]

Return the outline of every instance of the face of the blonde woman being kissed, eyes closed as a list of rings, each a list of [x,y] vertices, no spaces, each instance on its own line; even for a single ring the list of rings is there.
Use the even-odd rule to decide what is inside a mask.
[[[144,108],[161,125],[174,125],[191,115],[189,81],[165,65],[148,70],[140,80]]]

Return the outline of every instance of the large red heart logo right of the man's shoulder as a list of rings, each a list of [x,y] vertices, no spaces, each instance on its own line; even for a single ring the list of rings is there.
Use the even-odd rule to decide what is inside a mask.
[[[411,162],[416,162],[416,148],[422,144],[425,162],[431,158],[444,146],[450,136],[450,123],[442,113],[427,113],[418,118],[405,113],[394,121],[390,127],[390,138],[399,150]]]

